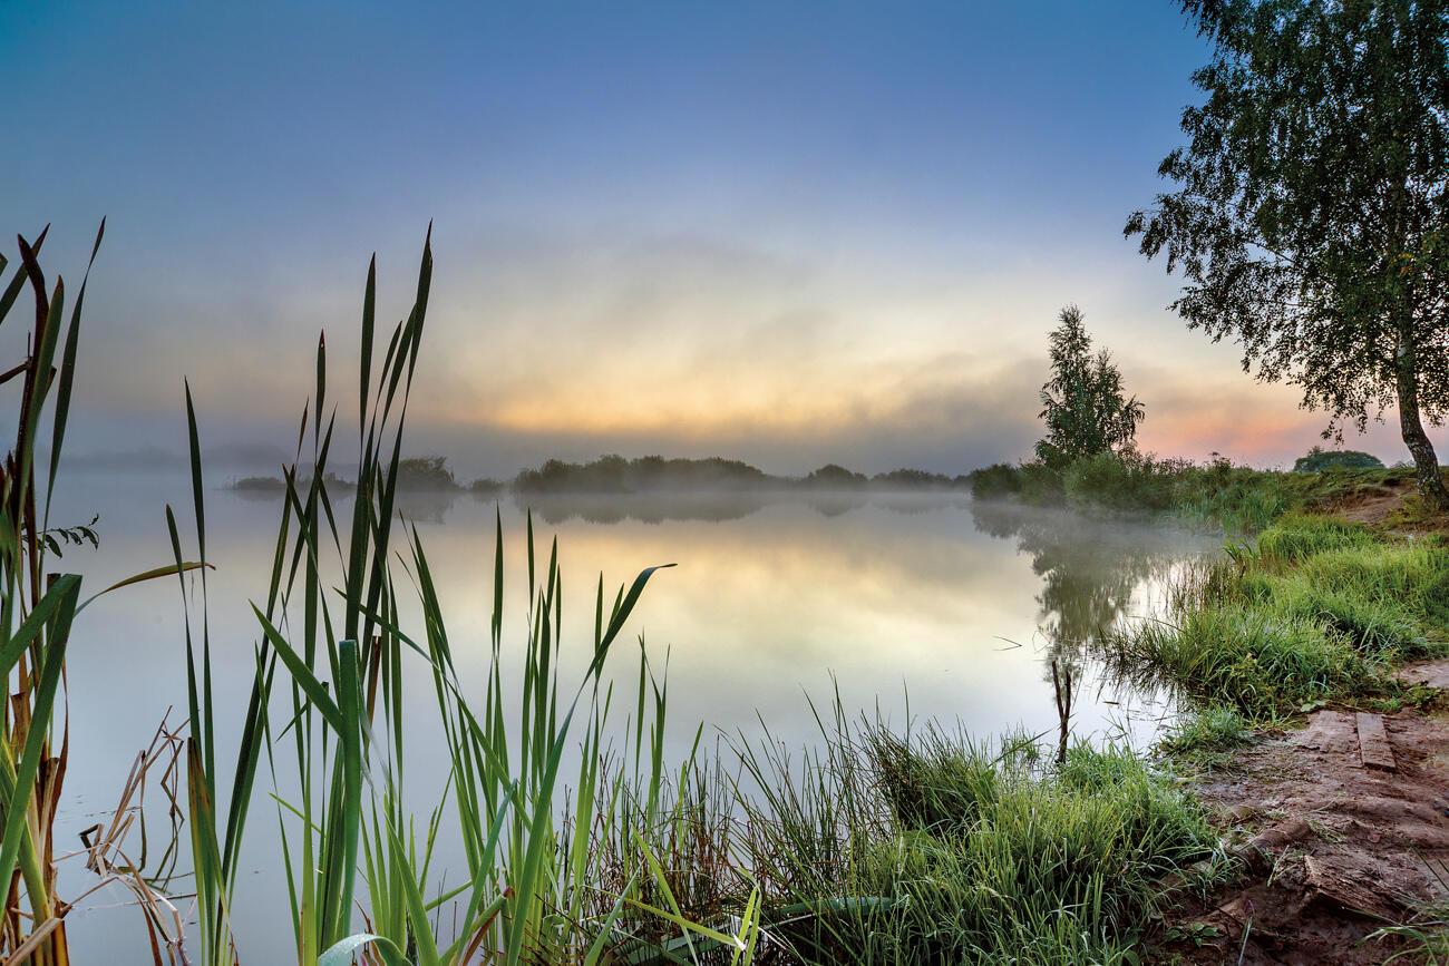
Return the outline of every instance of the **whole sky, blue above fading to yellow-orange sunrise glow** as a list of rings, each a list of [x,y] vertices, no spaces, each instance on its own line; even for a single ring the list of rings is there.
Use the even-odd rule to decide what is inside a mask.
[[[1206,56],[1166,0],[0,4],[0,227],[51,223],[74,278],[107,217],[77,466],[184,452],[183,378],[209,448],[274,459],[319,332],[349,398],[368,259],[396,320],[429,223],[409,449],[464,476],[1023,458],[1068,303],[1143,449],[1282,465],[1323,416],[1122,238]]]

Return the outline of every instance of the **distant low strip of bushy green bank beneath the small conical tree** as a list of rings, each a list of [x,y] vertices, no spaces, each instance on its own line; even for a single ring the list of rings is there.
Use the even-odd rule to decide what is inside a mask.
[[[1166,514],[1193,526],[1258,533],[1285,513],[1329,508],[1384,494],[1413,478],[1408,468],[1333,468],[1279,472],[1142,453],[1104,453],[1066,468],[1042,462],[995,463],[969,474],[978,500],[1088,511]]]

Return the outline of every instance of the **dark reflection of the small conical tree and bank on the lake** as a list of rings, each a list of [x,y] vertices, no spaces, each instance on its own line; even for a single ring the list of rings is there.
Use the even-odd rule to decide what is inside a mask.
[[[1036,600],[1048,681],[1053,663],[1078,679],[1084,656],[1127,616],[1133,592],[1188,552],[1181,532],[1066,510],[975,501],[971,517],[982,533],[1016,539],[1042,578]]]

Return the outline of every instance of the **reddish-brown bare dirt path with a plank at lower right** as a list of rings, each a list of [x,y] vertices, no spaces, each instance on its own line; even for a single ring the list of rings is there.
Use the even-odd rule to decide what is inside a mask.
[[[1449,688],[1449,660],[1403,673]],[[1317,711],[1197,792],[1235,826],[1249,872],[1171,915],[1158,962],[1382,963],[1403,947],[1374,930],[1449,898],[1449,713]]]

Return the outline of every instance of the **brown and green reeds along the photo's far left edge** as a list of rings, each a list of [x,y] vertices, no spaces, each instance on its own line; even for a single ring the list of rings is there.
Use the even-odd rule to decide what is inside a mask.
[[[178,559],[84,600],[78,575],[52,571],[67,545],[99,545],[94,518],[52,526],[51,503],[75,385],[85,288],[104,233],[101,222],[68,319],[64,278],[48,287],[41,266],[48,227],[33,243],[17,238],[19,264],[9,278],[10,262],[0,255],[0,324],[23,304],[26,290],[35,308],[25,358],[0,372],[0,385],[17,381],[9,390],[17,395],[14,442],[0,468],[0,676],[9,695],[0,708],[0,954],[38,966],[70,962],[65,915],[71,907],[57,895],[54,824],[70,760],[67,649],[72,631],[84,631],[84,623],[75,621],[101,594],[200,566]]]

